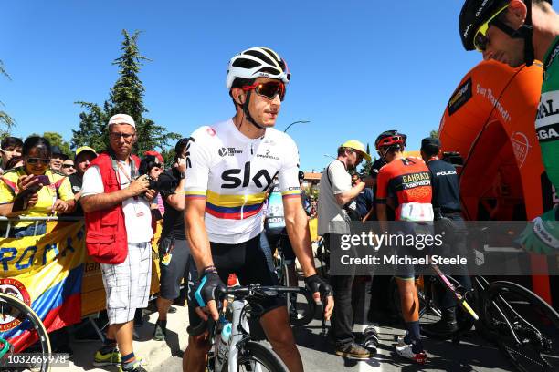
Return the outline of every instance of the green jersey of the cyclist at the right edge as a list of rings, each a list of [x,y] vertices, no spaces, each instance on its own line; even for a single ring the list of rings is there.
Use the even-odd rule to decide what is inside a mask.
[[[535,128],[543,166],[555,190],[559,190],[559,36],[543,58],[542,97]]]

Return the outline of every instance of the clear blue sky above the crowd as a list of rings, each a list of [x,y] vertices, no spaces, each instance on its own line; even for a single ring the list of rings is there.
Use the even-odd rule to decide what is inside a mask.
[[[121,30],[142,30],[140,50],[153,59],[141,72],[146,116],[186,136],[233,115],[229,58],[268,46],[292,72],[277,128],[311,120],[290,135],[301,168],[322,170],[322,154],[344,140],[373,144],[379,132],[399,129],[414,150],[438,129],[450,94],[481,59],[461,47],[461,4],[7,1],[0,59],[12,81],[0,78],[0,100],[16,119],[16,135],[58,131],[69,140],[79,124],[73,102],[108,98]]]

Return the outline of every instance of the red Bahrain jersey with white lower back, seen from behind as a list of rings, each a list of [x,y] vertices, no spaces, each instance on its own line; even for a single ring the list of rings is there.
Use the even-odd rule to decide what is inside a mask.
[[[393,160],[378,171],[376,202],[396,195],[396,221],[432,221],[431,176],[419,158]]]

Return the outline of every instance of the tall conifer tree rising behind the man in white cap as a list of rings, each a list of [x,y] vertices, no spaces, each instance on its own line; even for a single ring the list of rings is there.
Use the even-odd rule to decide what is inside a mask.
[[[143,105],[145,88],[139,78],[142,62],[151,61],[143,57],[138,49],[138,31],[132,36],[122,30],[124,40],[121,44],[121,57],[113,61],[119,67],[119,78],[111,88],[109,99],[101,107],[98,104],[79,101],[77,104],[86,109],[79,114],[79,129],[72,130],[72,146],[91,146],[96,150],[105,150],[108,144],[107,122],[112,115],[124,113],[132,116],[136,123],[138,140],[134,145],[134,152],[142,154],[146,150],[160,149],[181,136],[178,133],[167,132],[152,119],[143,117],[148,109]]]

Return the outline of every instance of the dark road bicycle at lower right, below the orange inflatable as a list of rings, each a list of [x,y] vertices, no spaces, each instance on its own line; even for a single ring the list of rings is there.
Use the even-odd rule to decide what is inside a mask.
[[[559,370],[559,314],[540,296],[522,285],[507,281],[490,283],[480,275],[472,277],[472,289],[466,291],[438,267],[434,269],[437,275],[423,276],[417,285],[423,334],[449,338],[458,344],[461,336],[475,327],[481,336],[496,343],[519,371]],[[424,326],[440,319],[436,294],[440,293],[437,287],[441,285],[460,304],[458,329],[449,333],[437,333]]]

